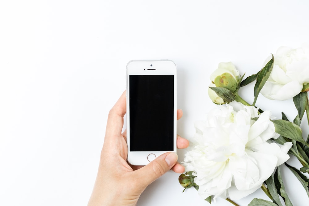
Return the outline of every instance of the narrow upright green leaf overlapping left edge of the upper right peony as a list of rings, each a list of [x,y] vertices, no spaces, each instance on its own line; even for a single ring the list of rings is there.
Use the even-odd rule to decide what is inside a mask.
[[[270,73],[271,73],[271,71],[273,69],[273,61],[274,61],[274,57],[273,57],[273,54],[272,54],[272,59],[269,60],[269,62],[258,73],[258,75],[256,77],[256,83],[254,85],[254,101],[253,101],[252,106],[255,105],[256,99],[257,99],[258,95],[260,94],[261,89],[263,88],[263,86],[265,85],[267,79],[270,76]]]

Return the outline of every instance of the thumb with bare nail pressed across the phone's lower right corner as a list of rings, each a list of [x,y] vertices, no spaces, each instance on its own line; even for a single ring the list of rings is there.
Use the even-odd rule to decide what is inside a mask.
[[[170,170],[177,162],[178,155],[175,152],[168,152],[160,155],[148,165],[140,168],[138,176],[140,185],[146,188],[150,183],[161,177]]]

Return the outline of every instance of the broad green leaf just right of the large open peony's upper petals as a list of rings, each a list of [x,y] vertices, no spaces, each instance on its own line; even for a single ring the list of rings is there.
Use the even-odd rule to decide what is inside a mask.
[[[302,136],[302,129],[289,121],[286,120],[271,120],[275,125],[275,132],[282,135],[283,137],[287,137],[291,140],[296,140],[298,142],[305,143],[305,140]]]

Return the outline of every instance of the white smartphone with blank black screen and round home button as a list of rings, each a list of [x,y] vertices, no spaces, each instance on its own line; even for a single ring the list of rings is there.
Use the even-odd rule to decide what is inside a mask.
[[[133,60],[126,72],[128,162],[146,165],[176,152],[176,64]]]

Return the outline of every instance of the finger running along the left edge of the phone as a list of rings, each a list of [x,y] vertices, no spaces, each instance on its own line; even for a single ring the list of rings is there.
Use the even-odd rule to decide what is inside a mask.
[[[123,116],[126,113],[126,91],[124,91],[108,114],[105,138],[121,135]]]

